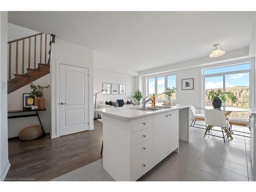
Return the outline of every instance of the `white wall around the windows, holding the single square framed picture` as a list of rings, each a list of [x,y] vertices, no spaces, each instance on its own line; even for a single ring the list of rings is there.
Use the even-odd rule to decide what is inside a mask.
[[[251,61],[252,65],[252,76],[251,76],[251,87],[252,87],[252,94],[251,94],[251,104],[252,106],[255,106],[255,67],[254,67],[254,58],[248,58],[248,59],[242,59],[242,60],[236,60],[236,61],[230,61],[225,63],[218,63],[215,65],[209,65],[207,67],[196,67],[196,68],[190,68],[190,69],[181,69],[181,70],[172,70],[172,73],[165,72],[165,73],[159,73],[157,75],[149,75],[143,77],[143,93],[146,94],[146,78],[148,77],[154,77],[154,76],[161,76],[161,75],[167,75],[167,74],[176,74],[177,78],[177,95],[176,95],[176,103],[180,104],[192,104],[194,106],[201,106],[203,103],[203,97],[202,97],[202,69],[204,68],[211,68],[211,67],[217,67],[217,66],[224,66],[224,65],[232,65],[234,63],[241,63],[245,61]],[[181,80],[187,79],[187,78],[194,78],[194,90],[181,90]],[[254,97],[254,98],[253,98]]]

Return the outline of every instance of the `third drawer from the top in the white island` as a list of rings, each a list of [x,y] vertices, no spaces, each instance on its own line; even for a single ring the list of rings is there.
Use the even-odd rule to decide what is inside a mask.
[[[131,160],[141,158],[145,153],[153,149],[153,138],[143,141],[131,148]]]

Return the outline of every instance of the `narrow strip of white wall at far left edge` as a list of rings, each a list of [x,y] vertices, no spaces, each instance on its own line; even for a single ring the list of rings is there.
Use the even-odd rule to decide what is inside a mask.
[[[7,128],[7,12],[0,12],[0,180],[6,177],[10,163],[8,159]],[[5,85],[5,87],[3,87]]]

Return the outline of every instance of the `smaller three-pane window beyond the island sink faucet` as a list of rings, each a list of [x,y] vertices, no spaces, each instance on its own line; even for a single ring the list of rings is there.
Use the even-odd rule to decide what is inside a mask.
[[[149,97],[155,94],[156,99],[164,100],[166,95],[164,92],[166,88],[176,87],[176,75],[165,75],[159,77],[147,78],[147,95]],[[176,99],[176,93],[172,96],[173,99]]]

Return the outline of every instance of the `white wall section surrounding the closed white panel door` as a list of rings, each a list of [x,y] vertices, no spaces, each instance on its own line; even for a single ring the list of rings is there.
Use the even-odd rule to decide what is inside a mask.
[[[72,44],[71,42],[55,39],[52,47],[50,64],[51,75],[51,137],[59,136],[58,122],[58,78],[60,64],[74,65],[89,69],[89,130],[94,129],[93,124],[93,50]]]

